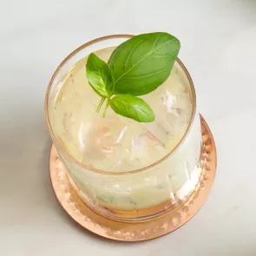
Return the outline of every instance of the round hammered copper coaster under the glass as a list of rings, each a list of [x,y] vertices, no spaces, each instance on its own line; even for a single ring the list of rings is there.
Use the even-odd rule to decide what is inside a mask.
[[[216,148],[207,122],[202,116],[200,116],[200,121],[203,141],[203,177],[200,181],[200,187],[189,200],[181,203],[180,207],[175,208],[161,218],[147,222],[125,223],[109,220],[93,212],[82,202],[74,188],[70,186],[66,170],[59,160],[56,148],[52,146],[49,156],[49,172],[57,199],[77,223],[108,239],[123,241],[151,240],[173,232],[200,210],[213,185],[217,163]]]

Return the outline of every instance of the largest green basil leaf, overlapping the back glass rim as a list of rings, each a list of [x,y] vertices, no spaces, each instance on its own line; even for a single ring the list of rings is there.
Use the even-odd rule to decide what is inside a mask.
[[[115,94],[146,95],[167,80],[181,48],[167,33],[134,36],[112,53],[108,65],[115,77]]]

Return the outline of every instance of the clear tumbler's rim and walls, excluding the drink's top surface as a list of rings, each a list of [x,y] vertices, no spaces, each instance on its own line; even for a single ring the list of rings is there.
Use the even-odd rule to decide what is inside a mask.
[[[66,167],[69,181],[81,199],[96,213],[112,220],[145,221],[160,217],[189,200],[201,178],[200,115],[196,107],[194,84],[180,59],[174,63],[181,71],[190,100],[192,115],[181,141],[159,161],[146,167],[124,172],[108,172],[87,166],[62,147],[49,112],[55,95],[62,86],[62,77],[76,62],[91,52],[117,46],[131,36],[114,35],[83,44],[67,56],[49,82],[45,115],[49,134]],[[86,115],[86,113],[85,113]]]

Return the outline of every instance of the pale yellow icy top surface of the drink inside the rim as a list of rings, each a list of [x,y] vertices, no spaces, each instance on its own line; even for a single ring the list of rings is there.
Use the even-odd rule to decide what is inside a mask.
[[[95,54],[108,62],[114,49]],[[49,108],[51,126],[62,148],[76,161],[107,172],[147,167],[170,153],[192,118],[191,92],[181,67],[176,63],[166,82],[141,96],[154,110],[155,121],[140,123],[111,108],[106,118],[96,113],[101,97],[89,86],[86,62],[87,57],[76,62],[63,76]]]

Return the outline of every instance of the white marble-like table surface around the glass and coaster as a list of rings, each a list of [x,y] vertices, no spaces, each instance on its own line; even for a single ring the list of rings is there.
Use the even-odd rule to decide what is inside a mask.
[[[256,1],[0,1],[0,255],[256,255]],[[167,31],[181,40],[218,173],[207,203],[174,233],[101,239],[56,202],[43,102],[50,76],[98,36]]]

